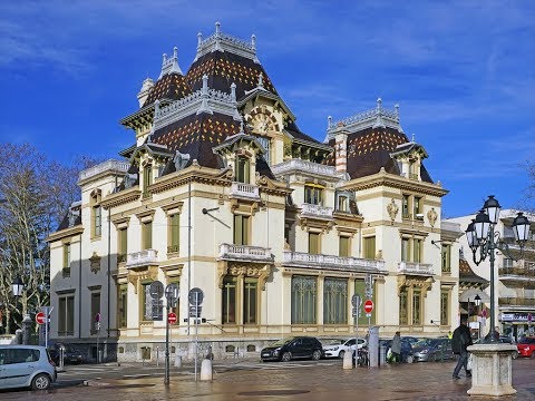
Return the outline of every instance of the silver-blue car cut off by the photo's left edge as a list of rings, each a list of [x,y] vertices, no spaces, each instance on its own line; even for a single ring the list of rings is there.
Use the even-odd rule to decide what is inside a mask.
[[[45,346],[0,345],[0,389],[47,390],[57,379]]]

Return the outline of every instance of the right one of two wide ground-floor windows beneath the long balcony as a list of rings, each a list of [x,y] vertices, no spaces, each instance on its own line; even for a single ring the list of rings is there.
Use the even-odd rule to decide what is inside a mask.
[[[348,281],[325,277],[323,281],[323,324],[348,323]]]

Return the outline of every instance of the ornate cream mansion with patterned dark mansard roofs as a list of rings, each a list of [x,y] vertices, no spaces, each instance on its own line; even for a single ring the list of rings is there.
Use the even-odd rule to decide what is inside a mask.
[[[185,75],[176,48],[164,56],[138,100],[121,120],[135,134],[124,159],[80,173],[81,202],[49,238],[52,338],[93,356],[98,338],[107,359],[154,359],[165,340],[154,281],[179,286],[172,341],[186,358],[194,332],[216,358],[257,356],[281,336],[354,335],[353,295],[374,302],[359,335],[369,323],[388,338],[458,324],[461,232],[441,222],[447,190],[398,106],[329,117],[320,143],[299,129],[255,37],[218,25],[198,36]]]

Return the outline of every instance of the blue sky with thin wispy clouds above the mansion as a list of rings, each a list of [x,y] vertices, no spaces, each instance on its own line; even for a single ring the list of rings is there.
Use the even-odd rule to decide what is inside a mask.
[[[52,159],[118,157],[134,141],[118,120],[178,47],[183,71],[197,32],[250,40],[307,134],[400,105],[450,193],[448,217],[489,194],[515,207],[535,154],[535,1],[2,1],[0,139]]]

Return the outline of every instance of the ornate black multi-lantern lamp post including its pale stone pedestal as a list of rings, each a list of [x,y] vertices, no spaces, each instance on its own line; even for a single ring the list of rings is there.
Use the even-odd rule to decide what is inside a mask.
[[[499,221],[499,203],[493,195],[485,202],[476,218],[466,228],[468,246],[474,255],[474,263],[479,265],[487,257],[490,262],[490,330],[495,325],[494,297],[494,262],[496,251],[500,251],[509,258],[509,246],[495,232]],[[513,219],[515,241],[521,248],[521,258],[529,236],[529,221],[522,213]],[[480,302],[480,301],[479,301]],[[516,393],[512,385],[512,352],[514,345],[502,344],[494,335],[489,335],[485,344],[470,345],[468,351],[474,354],[474,369],[470,395],[507,395]]]

